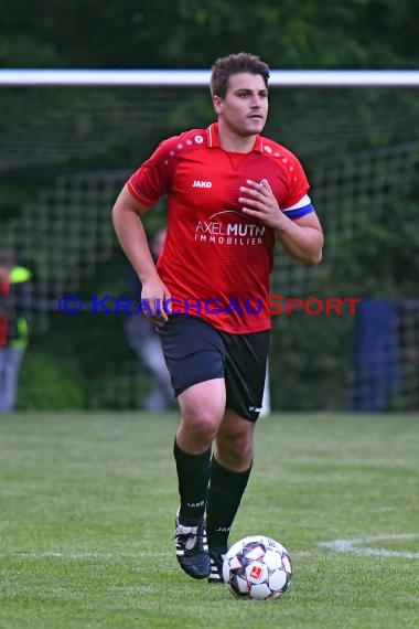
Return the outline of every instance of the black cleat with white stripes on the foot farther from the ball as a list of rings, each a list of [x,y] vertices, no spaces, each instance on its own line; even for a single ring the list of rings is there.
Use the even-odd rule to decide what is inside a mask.
[[[204,518],[191,525],[190,521],[187,524],[182,522],[178,511],[174,539],[181,568],[192,578],[207,578],[211,565]]]

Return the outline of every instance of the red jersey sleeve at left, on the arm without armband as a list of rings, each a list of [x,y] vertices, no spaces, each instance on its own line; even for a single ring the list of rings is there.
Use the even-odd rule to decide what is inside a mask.
[[[152,156],[129,178],[127,188],[131,195],[143,205],[154,205],[166,194],[172,177],[170,160],[171,145],[176,138],[169,138],[159,145]]]

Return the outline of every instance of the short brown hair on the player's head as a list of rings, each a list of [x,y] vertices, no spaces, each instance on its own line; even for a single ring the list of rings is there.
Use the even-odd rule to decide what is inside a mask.
[[[211,70],[211,94],[224,98],[227,94],[228,79],[233,74],[260,74],[268,87],[269,66],[257,55],[250,53],[230,54],[217,58]]]

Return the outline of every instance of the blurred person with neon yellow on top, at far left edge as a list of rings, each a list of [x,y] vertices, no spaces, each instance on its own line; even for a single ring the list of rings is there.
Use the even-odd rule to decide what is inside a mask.
[[[0,250],[0,412],[14,409],[19,372],[28,345],[24,314],[30,302],[32,273],[15,263],[11,248]]]

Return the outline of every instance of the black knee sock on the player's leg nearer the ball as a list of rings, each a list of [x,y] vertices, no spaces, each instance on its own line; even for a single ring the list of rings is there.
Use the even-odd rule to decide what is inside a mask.
[[[251,466],[244,472],[235,472],[221,466],[213,457],[206,508],[206,534],[213,550],[226,548],[228,534],[241,497],[249,480]]]

